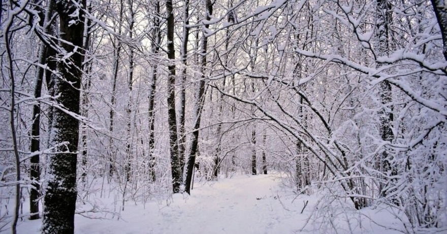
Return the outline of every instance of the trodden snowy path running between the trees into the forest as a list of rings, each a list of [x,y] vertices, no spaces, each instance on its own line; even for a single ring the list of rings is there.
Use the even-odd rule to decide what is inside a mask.
[[[181,212],[162,211],[170,219],[162,223],[173,223],[164,233],[281,233],[273,230],[279,224],[272,191],[277,183],[268,176],[243,176],[195,189]],[[163,227],[152,233],[157,230]]]

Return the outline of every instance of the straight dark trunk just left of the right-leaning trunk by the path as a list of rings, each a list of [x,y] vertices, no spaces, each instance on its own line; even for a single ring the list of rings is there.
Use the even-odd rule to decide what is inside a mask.
[[[178,137],[177,137],[177,114],[175,111],[175,50],[174,50],[174,12],[172,0],[166,0],[167,17],[167,44],[168,59],[171,65],[168,66],[168,125],[169,125],[169,145],[171,149],[171,175],[172,191],[180,192],[182,182],[182,171],[178,155]]]

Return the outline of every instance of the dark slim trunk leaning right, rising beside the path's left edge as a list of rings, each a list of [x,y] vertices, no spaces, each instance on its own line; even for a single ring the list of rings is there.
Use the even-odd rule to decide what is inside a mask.
[[[206,0],[205,3],[205,19],[210,20],[211,15],[213,14],[213,4],[211,0]],[[208,28],[209,25],[205,24],[205,28]],[[204,93],[205,93],[205,67],[206,67],[206,53],[208,47],[208,37],[203,33],[203,42],[202,42],[202,61],[201,61],[201,73],[202,77],[200,79],[199,88],[196,92],[196,103],[194,106],[194,116],[195,116],[195,124],[194,124],[194,132],[191,137],[191,148],[189,151],[189,158],[186,164],[186,179],[185,179],[185,191],[190,194],[191,182],[193,180],[193,172],[194,165],[196,164],[196,154],[198,153],[198,144],[199,144],[199,129],[200,129],[200,119],[202,113],[202,107],[204,103]]]

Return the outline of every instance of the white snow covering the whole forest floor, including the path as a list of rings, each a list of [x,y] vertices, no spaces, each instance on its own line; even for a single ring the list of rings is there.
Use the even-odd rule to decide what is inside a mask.
[[[272,174],[196,183],[191,196],[175,194],[166,201],[148,201],[144,205],[127,202],[119,219],[76,215],[75,233],[401,233],[389,228],[403,229],[387,210],[357,212],[338,206],[338,201],[325,209],[320,203],[320,209],[316,209],[321,200],[318,194],[297,197],[281,182],[279,174]],[[23,220],[18,231],[39,233],[40,225],[41,220]]]

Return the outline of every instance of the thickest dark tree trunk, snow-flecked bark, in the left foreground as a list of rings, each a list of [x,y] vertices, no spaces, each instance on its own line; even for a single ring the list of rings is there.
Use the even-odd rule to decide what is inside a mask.
[[[83,11],[85,0],[56,2],[59,14],[60,38],[64,53],[74,52],[70,61],[60,61],[58,71],[61,79],[55,81],[58,104],[78,114],[83,61]],[[79,12],[79,15],[74,14]],[[79,20],[80,19],[80,20]],[[75,21],[76,23],[72,23]],[[79,121],[60,109],[54,108],[51,146],[57,146],[49,157],[48,186],[45,193],[43,233],[73,233],[76,206],[76,164],[79,140]],[[67,142],[67,144],[63,143]],[[62,144],[62,145],[61,145]],[[58,146],[60,145],[60,146]]]

